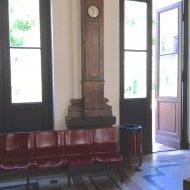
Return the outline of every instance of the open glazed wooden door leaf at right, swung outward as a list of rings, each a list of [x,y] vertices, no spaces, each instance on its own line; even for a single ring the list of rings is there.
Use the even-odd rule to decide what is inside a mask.
[[[157,12],[157,143],[180,148],[182,110],[182,2]]]

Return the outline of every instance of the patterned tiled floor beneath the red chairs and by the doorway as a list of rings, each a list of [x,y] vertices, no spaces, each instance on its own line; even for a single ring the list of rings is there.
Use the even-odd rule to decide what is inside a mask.
[[[190,177],[190,151],[158,152],[143,156],[139,171],[124,166],[124,182],[121,183],[116,168],[86,167],[73,169],[71,187],[66,174],[36,173],[31,178],[30,190],[182,190],[183,179]],[[0,176],[0,190],[24,190],[25,180]]]

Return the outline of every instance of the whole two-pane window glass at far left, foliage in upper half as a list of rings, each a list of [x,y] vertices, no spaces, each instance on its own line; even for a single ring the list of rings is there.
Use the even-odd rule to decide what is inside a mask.
[[[12,103],[41,102],[39,0],[9,0]]]

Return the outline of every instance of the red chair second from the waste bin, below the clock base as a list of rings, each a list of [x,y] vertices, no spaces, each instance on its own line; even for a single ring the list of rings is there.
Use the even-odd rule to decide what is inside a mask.
[[[86,165],[93,159],[93,130],[65,131],[66,157],[70,166]]]

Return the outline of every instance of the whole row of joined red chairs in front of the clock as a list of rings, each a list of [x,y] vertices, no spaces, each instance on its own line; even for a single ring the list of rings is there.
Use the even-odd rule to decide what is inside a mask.
[[[93,163],[116,163],[123,180],[123,157],[118,153],[117,129],[74,129],[0,134],[0,171],[69,168]]]

